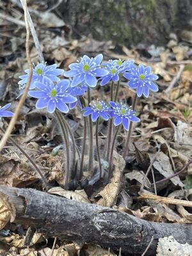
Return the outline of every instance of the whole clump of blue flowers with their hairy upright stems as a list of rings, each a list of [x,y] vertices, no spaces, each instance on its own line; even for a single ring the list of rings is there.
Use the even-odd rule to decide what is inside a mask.
[[[129,138],[131,136],[132,123],[140,122],[138,118],[138,113],[136,113],[136,98],[144,95],[149,96],[149,92],[157,92],[159,90],[155,81],[158,76],[152,74],[150,67],[144,67],[143,65],[136,65],[132,60],[111,60],[107,63],[102,62],[102,54],[98,54],[95,58],[89,58],[84,55],[81,60],[77,63],[72,63],[69,65],[70,70],[65,71],[60,68],[56,68],[56,64],[51,66],[46,66],[43,63],[39,63],[33,68],[33,77],[31,81],[31,86],[29,90],[29,95],[37,100],[36,108],[43,109],[47,108],[49,113],[55,113],[56,118],[63,132],[63,138],[65,140],[66,152],[67,152],[67,168],[66,168],[66,180],[65,185],[70,182],[70,161],[69,158],[73,157],[72,169],[77,168],[76,164],[76,153],[82,152],[81,156],[81,166],[79,168],[79,174],[76,177],[81,179],[83,171],[83,159],[86,145],[86,131],[89,131],[90,143],[90,156],[88,169],[92,170],[93,162],[93,127],[92,122],[96,122],[95,127],[95,141],[97,148],[97,159],[99,162],[99,178],[102,177],[102,159],[100,158],[99,150],[99,125],[103,120],[109,121],[109,131],[108,131],[108,152],[107,161],[109,162],[109,177],[111,177],[112,172],[112,161],[113,161],[113,150],[115,148],[115,140],[120,127],[124,127],[127,132],[127,141],[125,143],[124,158],[127,154],[127,149],[129,145]],[[29,70],[26,70],[26,75],[20,76],[19,84],[24,86],[27,83],[29,77]],[[69,79],[61,79],[61,75],[69,77]],[[128,79],[127,88],[136,89],[135,97],[133,100],[133,106],[129,107],[124,102],[118,100],[118,88],[120,86],[120,81],[124,76]],[[108,84],[111,81],[111,100],[109,102],[104,102],[102,99],[93,99],[91,101],[90,93],[99,83],[101,86]],[[115,98],[113,98],[113,84],[117,83]],[[87,93],[87,95],[86,95]],[[84,95],[88,96],[88,103],[84,99]],[[93,97],[94,98],[94,97]],[[83,103],[82,103],[83,102]],[[64,116],[61,113],[68,113],[70,109],[79,106],[81,113],[84,116],[84,137],[83,146],[77,147],[76,141],[73,136],[73,132],[70,130],[70,125],[65,121]],[[83,105],[83,106],[82,106]],[[13,113],[6,111],[10,106],[7,104],[3,108],[0,108],[1,116],[12,116]],[[88,122],[86,121],[88,117],[89,127],[86,130]],[[114,128],[112,127],[114,125]],[[113,141],[111,140],[111,134],[114,136]],[[72,139],[73,147],[72,154],[70,154],[69,147],[70,143],[68,136]],[[112,142],[112,144],[111,144]],[[77,152],[76,152],[77,149]],[[109,154],[110,153],[110,154]],[[110,157],[109,157],[110,156]],[[80,160],[80,159],[79,159]],[[76,181],[79,181],[76,180]]]

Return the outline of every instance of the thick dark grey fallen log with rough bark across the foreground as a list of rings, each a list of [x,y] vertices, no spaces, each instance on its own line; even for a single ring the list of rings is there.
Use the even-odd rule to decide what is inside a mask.
[[[192,244],[189,224],[153,223],[107,207],[68,200],[35,189],[0,186],[0,194],[0,198],[4,195],[15,208],[13,222],[28,224],[42,234],[62,237],[79,246],[95,243],[115,251],[122,248],[123,255],[141,254],[153,236],[146,255],[155,255],[160,237],[173,236],[179,243]]]

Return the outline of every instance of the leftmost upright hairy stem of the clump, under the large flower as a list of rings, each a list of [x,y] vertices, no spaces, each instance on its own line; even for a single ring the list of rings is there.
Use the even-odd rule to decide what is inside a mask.
[[[66,155],[67,155],[67,166],[66,166],[66,176],[65,176],[65,182],[64,185],[67,186],[67,184],[69,183],[69,178],[70,178],[70,167],[69,167],[69,160],[70,160],[70,156],[69,156],[69,143],[68,143],[68,134],[66,133],[67,130],[65,129],[65,125],[63,125],[62,122],[62,117],[59,111],[55,111],[55,115],[56,118],[58,119],[58,122],[60,124],[61,127],[61,132],[63,134],[63,139],[65,141],[65,148],[66,148]],[[65,131],[66,130],[66,131]]]

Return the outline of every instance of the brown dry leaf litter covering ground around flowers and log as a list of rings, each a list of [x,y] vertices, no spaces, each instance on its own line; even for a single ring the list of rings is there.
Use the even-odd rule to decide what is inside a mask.
[[[8,8],[7,4],[0,6],[0,106],[12,102],[10,110],[14,112],[18,104],[17,83],[19,76],[28,68],[28,63],[22,8],[16,2],[10,3],[9,7],[10,11],[8,9],[5,11],[5,8]],[[31,9],[29,8],[29,11]],[[35,10],[31,15],[48,65],[56,63],[59,68],[68,70],[68,65],[76,62],[84,54],[94,57],[102,53],[104,61],[120,58],[134,60],[137,64],[150,65],[152,72],[159,76],[157,80],[159,92],[150,93],[147,99],[141,97],[138,100],[137,111],[140,113],[141,122],[132,130],[129,155],[122,164],[122,170],[116,170],[123,173],[122,177],[114,173],[114,179],[111,180],[114,182],[111,186],[112,190],[116,189],[116,182],[120,184],[115,202],[114,198],[110,198],[110,194],[106,193],[105,187],[97,186],[95,178],[92,180],[92,188],[90,186],[74,188],[76,200],[82,200],[83,196],[92,204],[113,207],[147,221],[190,224],[192,222],[191,207],[185,207],[182,204],[166,204],[156,198],[156,195],[170,199],[192,200],[192,164],[188,164],[192,159],[191,42],[178,42],[177,36],[173,34],[166,47],[140,45],[129,49],[125,45],[113,45],[110,41],[98,42],[91,37],[82,36],[79,40],[73,39],[70,36],[70,28],[54,12]],[[32,37],[30,48],[31,61],[37,63],[38,54]],[[122,79],[118,99],[131,105],[133,97],[134,92],[129,90],[127,82]],[[103,87],[97,86],[92,90],[92,99],[97,98],[109,101],[109,84]],[[81,147],[83,134],[81,112],[74,109],[65,115],[65,118]],[[4,129],[9,121],[10,118],[3,120]],[[107,124],[100,125],[101,150],[104,150],[107,129]],[[12,137],[22,145],[35,163],[41,166],[45,177],[53,187],[63,186],[65,176],[63,149],[60,148],[54,156],[51,154],[53,148],[62,143],[60,130],[53,122],[51,114],[35,109],[35,99],[31,97],[26,99]],[[126,132],[121,131],[116,142],[116,151],[120,156],[125,145],[125,137]],[[86,152],[88,153],[88,148]],[[0,155],[0,170],[0,185],[44,191],[38,174],[10,141],[6,143]],[[180,170],[182,172],[174,175]],[[89,177],[90,173],[85,172],[83,179],[86,180]],[[141,198],[141,188],[145,196],[154,195],[154,200]],[[80,190],[83,194],[79,193]],[[112,190],[111,195],[113,195]],[[70,191],[65,191],[62,195],[71,197]],[[80,250],[75,244],[60,239],[57,239],[52,251],[54,237],[46,237],[40,233],[36,233],[31,245],[24,248],[27,229],[28,227],[22,227],[18,223],[7,224],[0,231],[0,254],[115,255],[108,249],[100,248],[99,244],[88,244]]]

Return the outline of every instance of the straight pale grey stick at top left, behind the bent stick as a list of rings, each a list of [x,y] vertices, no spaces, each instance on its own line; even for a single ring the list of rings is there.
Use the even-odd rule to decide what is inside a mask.
[[[20,3],[22,4],[22,7],[24,8],[24,3],[26,3],[26,0],[20,0]],[[28,8],[26,8],[26,19],[29,22],[29,27],[31,29],[31,34],[33,36],[33,40],[34,40],[34,43],[35,43],[35,48],[36,48],[36,51],[38,52],[38,57],[40,59],[40,62],[45,63],[44,56],[42,54],[42,50],[41,50],[40,44],[38,42],[38,37],[36,35],[35,27],[33,25],[33,21],[31,19],[31,15],[29,13]]]

